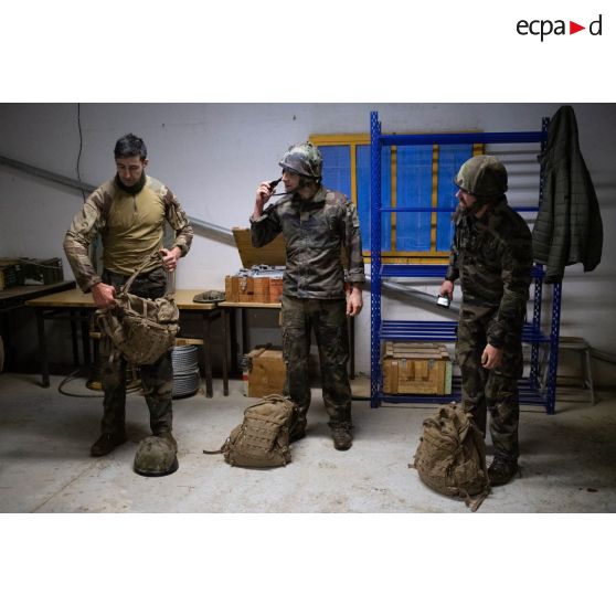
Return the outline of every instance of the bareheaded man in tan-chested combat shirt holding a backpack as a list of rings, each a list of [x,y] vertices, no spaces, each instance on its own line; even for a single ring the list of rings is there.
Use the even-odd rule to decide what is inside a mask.
[[[119,287],[145,258],[161,248],[167,221],[176,232],[170,249],[161,248],[163,267],[140,274],[130,293],[157,299],[167,287],[167,272],[173,272],[178,259],[190,249],[193,232],[174,194],[155,178],[146,176],[148,164],[146,145],[135,135],[118,139],[115,150],[116,177],[97,188],[73,219],[64,238],[64,251],[84,293],[92,293],[97,308],[114,305]],[[104,270],[98,276],[88,247],[100,234],[104,248]],[[100,354],[104,362],[102,384],[102,435],[91,448],[93,456],[105,456],[126,442],[126,360],[109,362],[110,341],[103,337]],[[146,402],[150,411],[150,427],[155,435],[169,439],[177,450],[171,434],[171,390],[173,368],[171,351],[156,363],[140,367]]]

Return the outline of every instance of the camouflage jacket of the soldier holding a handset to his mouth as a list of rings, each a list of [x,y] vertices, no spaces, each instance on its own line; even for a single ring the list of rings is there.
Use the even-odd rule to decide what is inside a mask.
[[[287,252],[284,293],[307,299],[344,297],[344,249],[347,282],[364,283],[358,212],[340,192],[321,187],[310,201],[288,195],[251,219],[256,247],[283,233]]]

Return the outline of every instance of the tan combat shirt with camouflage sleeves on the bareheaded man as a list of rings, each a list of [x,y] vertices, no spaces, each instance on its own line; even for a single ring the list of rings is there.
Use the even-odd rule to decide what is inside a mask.
[[[103,241],[105,268],[130,275],[161,247],[164,221],[176,232],[173,246],[184,256],[192,242],[192,227],[180,202],[164,184],[148,176],[137,194],[124,191],[115,179],[98,187],[64,237],[64,252],[79,288],[86,293],[100,283],[88,255],[96,234]]]

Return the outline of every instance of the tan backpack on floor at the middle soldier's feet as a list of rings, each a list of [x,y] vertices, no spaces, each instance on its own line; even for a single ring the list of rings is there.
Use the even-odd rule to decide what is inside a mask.
[[[272,394],[244,411],[244,421],[233,428],[217,452],[231,466],[272,468],[290,463],[289,432],[297,417],[294,403]]]

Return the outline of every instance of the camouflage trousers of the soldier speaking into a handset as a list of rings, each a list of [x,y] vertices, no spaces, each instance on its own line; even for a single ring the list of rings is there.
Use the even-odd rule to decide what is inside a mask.
[[[285,395],[299,406],[298,426],[306,425],[310,406],[308,357],[310,334],[319,349],[323,402],[329,425],[351,426],[351,385],[347,306],[342,299],[298,299],[283,296],[283,357],[287,368]]]

